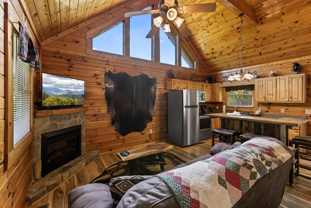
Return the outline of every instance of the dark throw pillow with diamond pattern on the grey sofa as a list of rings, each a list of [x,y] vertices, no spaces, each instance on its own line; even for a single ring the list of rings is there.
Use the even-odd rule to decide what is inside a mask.
[[[111,179],[109,183],[109,189],[113,203],[115,205],[118,205],[122,196],[126,193],[128,189],[138,184],[139,182],[151,177],[153,177],[153,175],[130,175],[115,177]]]

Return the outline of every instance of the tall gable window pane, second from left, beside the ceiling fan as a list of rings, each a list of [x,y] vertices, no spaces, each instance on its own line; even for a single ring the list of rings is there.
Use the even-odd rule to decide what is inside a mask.
[[[148,7],[144,10],[151,10]],[[152,60],[152,39],[146,38],[151,30],[152,15],[139,15],[130,18],[130,56]]]

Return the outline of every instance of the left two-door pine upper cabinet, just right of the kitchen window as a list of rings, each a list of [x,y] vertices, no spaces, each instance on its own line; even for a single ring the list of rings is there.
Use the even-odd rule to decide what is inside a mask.
[[[255,80],[256,100],[259,102],[276,101],[276,77]]]

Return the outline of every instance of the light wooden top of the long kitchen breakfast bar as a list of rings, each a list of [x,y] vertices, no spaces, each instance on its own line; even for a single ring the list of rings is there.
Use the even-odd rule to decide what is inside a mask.
[[[279,124],[286,126],[300,126],[302,124],[308,123],[308,119],[299,119],[299,118],[287,118],[287,117],[268,117],[268,116],[252,116],[252,115],[227,115],[227,113],[211,113],[208,114],[211,118],[231,118],[237,120],[246,120],[260,123],[270,123],[270,124]]]

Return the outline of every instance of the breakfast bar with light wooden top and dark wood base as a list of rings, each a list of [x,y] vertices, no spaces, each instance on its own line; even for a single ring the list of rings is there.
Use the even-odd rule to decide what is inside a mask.
[[[211,118],[222,118],[222,128],[238,130],[241,133],[252,132],[273,136],[288,145],[288,129],[297,126],[306,128],[308,119],[290,117],[270,117],[252,115],[227,115],[227,113],[211,113]]]

